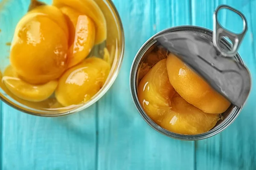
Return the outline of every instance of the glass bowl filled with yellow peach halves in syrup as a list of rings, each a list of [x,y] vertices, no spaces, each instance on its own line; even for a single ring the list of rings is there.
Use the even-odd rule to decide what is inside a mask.
[[[111,0],[2,1],[0,23],[0,98],[19,111],[81,111],[119,73],[124,34]]]

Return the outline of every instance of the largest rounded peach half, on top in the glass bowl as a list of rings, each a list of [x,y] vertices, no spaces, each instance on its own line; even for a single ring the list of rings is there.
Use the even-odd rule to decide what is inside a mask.
[[[22,79],[43,84],[57,79],[67,68],[67,37],[55,21],[29,13],[18,23],[10,62]]]

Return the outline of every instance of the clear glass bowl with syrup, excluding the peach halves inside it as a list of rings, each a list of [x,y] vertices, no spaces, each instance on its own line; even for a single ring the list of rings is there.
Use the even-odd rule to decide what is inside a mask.
[[[41,0],[44,3],[52,4],[51,0]],[[97,102],[111,87],[115,81],[124,54],[124,32],[119,14],[111,0],[95,0],[101,8],[107,22],[107,40],[93,48],[93,56],[101,55],[105,47],[110,54],[112,63],[110,74],[100,89],[88,102],[68,107],[59,106],[54,96],[47,99],[47,102],[28,102],[20,99],[10,92],[0,82],[0,99],[13,108],[37,116],[64,116],[70,113],[81,111]],[[0,71],[6,69],[10,64],[9,53],[15,27],[18,21],[23,17],[28,8],[30,0],[0,0]]]

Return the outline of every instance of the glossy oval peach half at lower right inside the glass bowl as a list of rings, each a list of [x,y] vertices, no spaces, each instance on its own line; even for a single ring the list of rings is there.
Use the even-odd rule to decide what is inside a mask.
[[[104,85],[110,65],[96,57],[68,69],[59,79],[55,97],[63,106],[89,101]]]

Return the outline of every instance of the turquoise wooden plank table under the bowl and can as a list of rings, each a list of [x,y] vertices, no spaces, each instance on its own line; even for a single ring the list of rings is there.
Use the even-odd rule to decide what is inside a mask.
[[[19,1],[22,8],[29,0]],[[20,113],[1,102],[0,170],[256,169],[256,0],[113,2],[125,29],[125,57],[110,91],[90,108],[57,118]],[[0,8],[4,3],[8,2],[0,0]],[[163,136],[134,107],[129,91],[131,63],[140,46],[165,28],[212,29],[212,12],[219,4],[239,9],[248,20],[239,53],[253,78],[249,99],[236,121],[212,138],[184,142]],[[221,17],[231,30],[237,22],[227,12]]]

